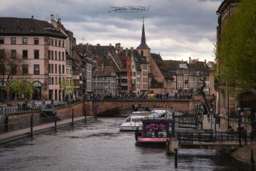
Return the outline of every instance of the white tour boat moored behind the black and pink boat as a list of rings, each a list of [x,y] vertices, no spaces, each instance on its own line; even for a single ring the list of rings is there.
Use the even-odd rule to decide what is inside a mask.
[[[120,131],[136,131],[138,128],[142,130],[141,118],[157,118],[161,117],[161,115],[157,113],[150,113],[149,115],[139,115],[139,116],[129,116],[124,120],[124,123],[120,125]]]

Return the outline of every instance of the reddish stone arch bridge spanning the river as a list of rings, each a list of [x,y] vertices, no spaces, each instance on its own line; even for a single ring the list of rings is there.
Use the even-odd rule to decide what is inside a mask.
[[[89,100],[84,102],[86,105],[87,115],[95,115],[96,105],[97,114],[109,111],[111,109],[132,106],[132,105],[152,105],[152,107],[162,107],[175,109],[176,111],[189,111],[194,113],[196,104],[200,104],[200,99],[170,99],[170,100]],[[210,100],[209,100],[210,103]]]

